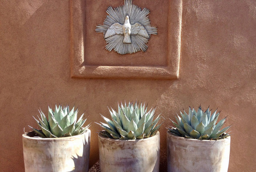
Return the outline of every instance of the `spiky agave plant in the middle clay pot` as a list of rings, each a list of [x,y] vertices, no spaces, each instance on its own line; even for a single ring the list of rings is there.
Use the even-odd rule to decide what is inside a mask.
[[[115,111],[111,108],[109,109],[111,119],[102,118],[105,120],[105,123],[100,122],[101,127],[105,131],[101,131],[101,134],[105,137],[112,139],[143,139],[154,136],[161,124],[157,126],[157,123],[160,119],[160,115],[153,121],[155,108],[151,108],[147,112],[147,106],[139,106],[137,101],[133,105],[130,103],[126,106],[121,106],[118,104],[118,110]]]

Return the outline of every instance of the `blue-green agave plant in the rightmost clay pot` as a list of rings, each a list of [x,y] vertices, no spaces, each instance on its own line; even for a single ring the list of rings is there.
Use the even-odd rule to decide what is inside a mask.
[[[177,117],[175,116],[177,123],[170,119],[176,128],[170,126],[171,128],[169,128],[169,130],[174,135],[191,139],[224,139],[229,136],[229,134],[225,133],[225,131],[227,131],[230,126],[221,130],[227,117],[220,120],[219,123],[216,123],[219,114],[220,111],[217,113],[216,109],[211,115],[211,110],[209,110],[209,107],[205,112],[202,110],[201,106],[199,106],[197,112],[194,108],[191,110],[189,107],[188,114],[185,111],[184,113],[180,111],[180,116],[178,114]]]

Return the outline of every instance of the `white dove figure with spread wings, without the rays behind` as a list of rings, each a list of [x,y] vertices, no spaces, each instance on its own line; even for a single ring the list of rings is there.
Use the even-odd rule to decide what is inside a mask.
[[[140,23],[130,24],[129,16],[125,16],[125,23],[122,25],[118,22],[114,23],[107,29],[105,38],[113,36],[115,34],[123,34],[123,43],[131,44],[131,34],[138,34],[143,37],[149,38],[147,30]]]

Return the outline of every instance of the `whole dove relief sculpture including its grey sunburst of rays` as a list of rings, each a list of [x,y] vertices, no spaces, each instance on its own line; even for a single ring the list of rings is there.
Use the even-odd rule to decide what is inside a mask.
[[[96,26],[96,32],[102,32],[106,40],[106,49],[119,54],[145,52],[151,34],[157,34],[149,20],[149,9],[141,9],[132,4],[132,0],[124,0],[123,6],[108,7],[103,25]]]

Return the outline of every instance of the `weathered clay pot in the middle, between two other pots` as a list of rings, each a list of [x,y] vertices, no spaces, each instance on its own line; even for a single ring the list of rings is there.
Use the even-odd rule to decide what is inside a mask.
[[[146,139],[117,140],[98,134],[101,172],[158,172],[160,134]]]

